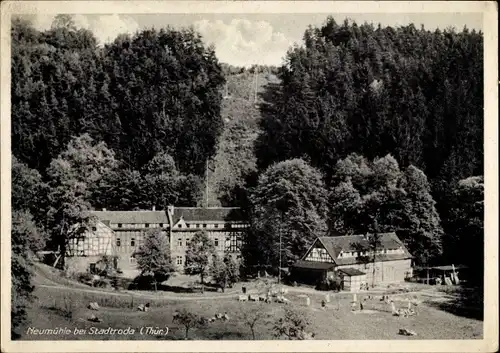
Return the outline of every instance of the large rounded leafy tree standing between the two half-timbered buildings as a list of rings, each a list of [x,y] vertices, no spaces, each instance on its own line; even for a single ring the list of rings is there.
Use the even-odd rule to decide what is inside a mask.
[[[255,263],[277,267],[297,260],[317,236],[326,234],[327,200],[322,175],[301,159],[270,166],[252,192],[247,248]],[[249,257],[249,254],[246,254]]]

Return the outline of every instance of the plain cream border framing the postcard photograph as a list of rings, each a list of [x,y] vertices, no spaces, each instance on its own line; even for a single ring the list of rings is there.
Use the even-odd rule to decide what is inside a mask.
[[[484,32],[485,318],[482,340],[412,341],[10,341],[10,297],[2,295],[5,352],[494,352],[498,350],[498,9],[495,2],[5,1],[1,3],[1,273],[10,292],[10,15],[12,13],[482,13]],[[167,343],[168,342],[168,343]]]

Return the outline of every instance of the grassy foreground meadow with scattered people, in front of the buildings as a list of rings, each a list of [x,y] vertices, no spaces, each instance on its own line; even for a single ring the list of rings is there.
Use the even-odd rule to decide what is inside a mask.
[[[308,329],[314,332],[314,339],[319,340],[479,339],[483,330],[483,322],[477,316],[480,303],[476,303],[475,312],[474,307],[465,306],[461,308],[463,312],[453,312],[448,306],[461,307],[456,303],[459,298],[456,290],[444,291],[418,284],[354,295],[322,293],[305,287],[278,287],[274,281],[271,292],[274,291],[275,296],[266,302],[263,294],[269,285],[258,280],[243,283],[248,291],[245,295],[240,288],[233,288],[226,293],[206,292],[195,297],[85,290],[43,279],[41,282],[45,284],[36,290],[38,299],[29,311],[29,327],[40,330],[71,327],[71,333],[26,334],[29,327],[25,327],[24,339],[185,339],[185,326],[174,318],[183,310],[205,319],[203,325],[193,325],[189,330],[188,338],[198,340],[252,339],[248,322],[253,319],[255,339],[276,339],[273,327],[277,319],[284,317],[286,309],[304,315],[310,322]],[[169,299],[172,297],[175,299]],[[75,327],[81,333],[75,335]],[[106,331],[108,328],[117,331]]]

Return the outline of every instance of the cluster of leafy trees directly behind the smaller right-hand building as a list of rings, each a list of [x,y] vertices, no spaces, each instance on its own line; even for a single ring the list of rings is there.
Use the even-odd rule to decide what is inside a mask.
[[[351,154],[337,162],[332,179],[332,232],[395,231],[420,264],[441,254],[441,220],[421,170],[410,165],[401,171],[390,155],[370,162]]]

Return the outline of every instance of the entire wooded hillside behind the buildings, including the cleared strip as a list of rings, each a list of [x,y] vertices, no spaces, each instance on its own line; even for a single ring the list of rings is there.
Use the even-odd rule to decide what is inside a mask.
[[[44,32],[15,19],[12,39],[13,180],[41,200],[29,211],[49,232],[75,216],[57,205],[269,210],[251,200],[283,195],[257,197],[259,176],[302,159],[291,170],[320,173],[331,231],[406,232],[414,252],[428,242],[449,258],[465,229],[480,236],[483,183],[467,181],[483,174],[480,32],[328,19],[280,68],[219,63],[191,29],[100,47],[64,15]],[[294,217],[310,206],[295,205]]]

